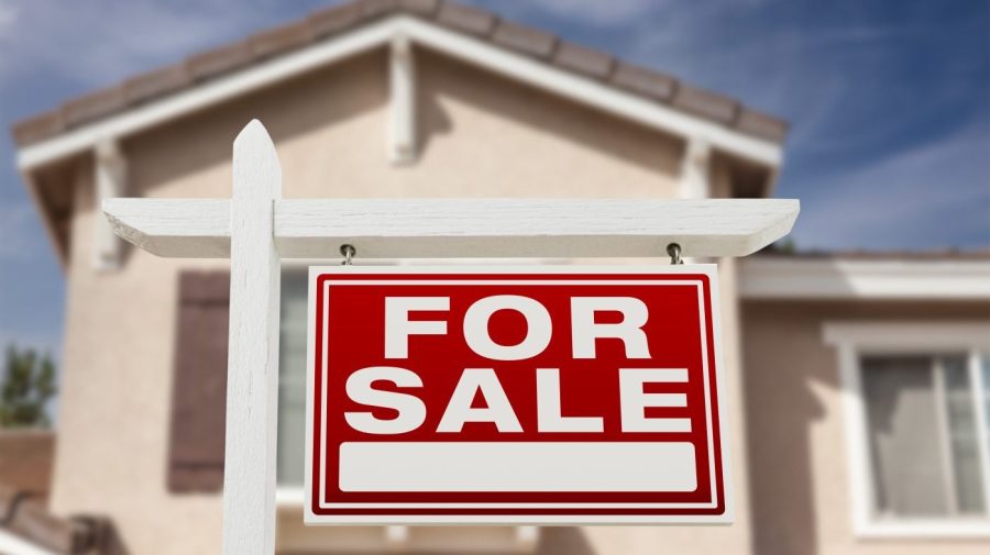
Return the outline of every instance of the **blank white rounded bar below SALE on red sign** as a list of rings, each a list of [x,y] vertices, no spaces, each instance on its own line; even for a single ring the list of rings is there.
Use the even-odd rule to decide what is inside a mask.
[[[691,443],[353,442],[341,491],[694,491]]]

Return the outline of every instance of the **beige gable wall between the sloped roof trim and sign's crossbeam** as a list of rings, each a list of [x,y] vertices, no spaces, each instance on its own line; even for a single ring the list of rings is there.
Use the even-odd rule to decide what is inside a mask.
[[[683,145],[416,51],[417,159],[388,162],[387,55],[372,53],[124,142],[129,195],[228,197],[231,142],[252,118],[286,197],[666,197]]]

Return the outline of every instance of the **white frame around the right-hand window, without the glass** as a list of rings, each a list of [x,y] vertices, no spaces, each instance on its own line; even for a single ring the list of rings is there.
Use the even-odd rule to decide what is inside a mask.
[[[986,386],[981,355],[990,355],[990,322],[826,322],[825,342],[837,349],[842,406],[846,426],[853,531],[875,539],[990,537],[990,469],[981,465],[988,515],[947,519],[879,520],[873,517],[873,478],[860,360],[864,355],[939,355],[966,353],[972,386],[980,459],[990,460],[987,445]]]

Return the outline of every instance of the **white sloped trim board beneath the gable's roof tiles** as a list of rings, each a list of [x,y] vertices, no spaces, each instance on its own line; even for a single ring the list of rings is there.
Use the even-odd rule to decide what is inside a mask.
[[[740,133],[718,123],[624,92],[604,82],[576,76],[543,62],[508,52],[485,41],[463,36],[407,15],[395,15],[317,43],[296,53],[212,79],[161,100],[63,133],[18,152],[18,166],[28,171],[94,148],[101,141],[122,140],[169,120],[216,106],[290,77],[384,47],[393,36],[463,59],[554,95],[591,106],[681,137],[697,137],[713,147],[769,167],[781,163],[781,145]]]

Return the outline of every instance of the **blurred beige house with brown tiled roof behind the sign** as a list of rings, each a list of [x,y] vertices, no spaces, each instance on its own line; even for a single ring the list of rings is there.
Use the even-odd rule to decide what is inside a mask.
[[[439,0],[329,8],[16,124],[68,289],[44,523],[0,523],[37,550],[22,553],[220,551],[226,264],[127,247],[97,207],[229,196],[231,141],[252,118],[288,198],[760,198],[787,131]],[[549,529],[302,526],[306,282],[286,263],[278,552],[986,553],[990,256],[717,263],[735,523]],[[66,522],[72,541],[53,541]]]

